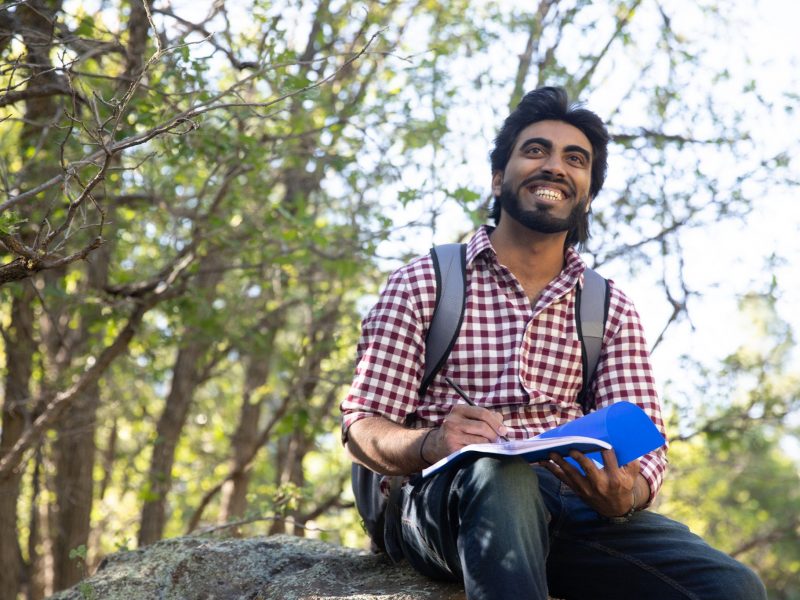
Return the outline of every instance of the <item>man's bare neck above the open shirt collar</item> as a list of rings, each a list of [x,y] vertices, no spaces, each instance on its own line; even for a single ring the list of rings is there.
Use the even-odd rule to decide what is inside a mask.
[[[531,231],[506,214],[490,238],[498,260],[514,274],[531,300],[564,267],[566,231]]]

